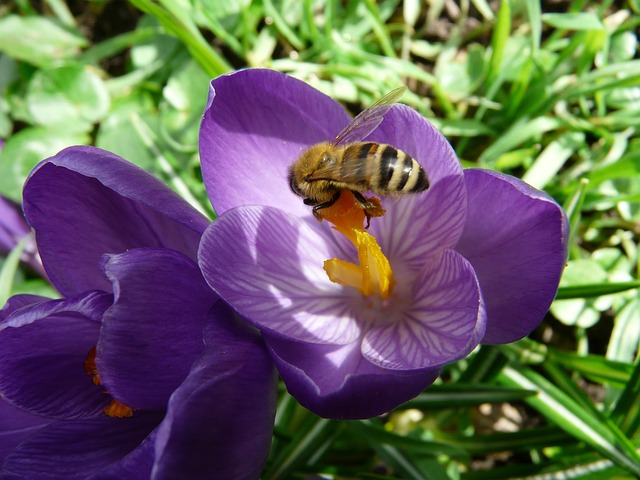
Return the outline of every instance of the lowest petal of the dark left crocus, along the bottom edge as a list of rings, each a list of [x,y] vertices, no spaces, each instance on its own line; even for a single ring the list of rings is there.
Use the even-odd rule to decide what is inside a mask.
[[[140,445],[160,418],[158,414],[139,413],[127,419],[103,416],[53,423],[29,437],[6,458],[0,477],[92,478],[92,474],[119,462]]]

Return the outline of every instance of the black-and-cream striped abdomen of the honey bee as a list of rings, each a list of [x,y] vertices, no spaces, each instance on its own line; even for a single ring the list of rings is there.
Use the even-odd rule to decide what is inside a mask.
[[[384,195],[417,193],[429,188],[422,166],[402,150],[380,143],[354,143],[344,148],[342,177]],[[349,181],[349,180],[347,180]]]

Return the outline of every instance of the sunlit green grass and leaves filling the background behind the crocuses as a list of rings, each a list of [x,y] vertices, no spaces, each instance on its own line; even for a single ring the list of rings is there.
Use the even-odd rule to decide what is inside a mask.
[[[406,84],[403,102],[465,166],[519,176],[568,210],[558,299],[531,338],[480,348],[381,418],[321,419],[283,390],[264,478],[635,478],[639,12],[638,0],[15,0],[0,6],[0,193],[19,202],[38,161],[93,144],[213,218],[197,155],[211,77],[273,68],[354,113]],[[50,289],[18,258],[0,264],[1,303]]]

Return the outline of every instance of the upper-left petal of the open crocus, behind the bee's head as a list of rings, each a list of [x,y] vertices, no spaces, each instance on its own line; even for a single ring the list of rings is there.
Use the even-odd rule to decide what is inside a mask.
[[[332,140],[350,120],[335,100],[273,70],[213,80],[200,158],[215,211],[255,204],[308,216],[309,207],[289,188],[289,167],[303,149]]]

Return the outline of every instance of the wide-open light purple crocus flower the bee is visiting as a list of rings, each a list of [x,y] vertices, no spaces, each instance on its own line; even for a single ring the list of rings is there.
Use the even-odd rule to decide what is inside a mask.
[[[318,223],[288,182],[304,149],[350,121],[303,82],[244,70],[212,82],[200,132],[220,215],[200,245],[204,276],[262,331],[289,392],[333,418],[386,412],[478,344],[530,333],[566,259],[567,220],[551,198],[507,175],[463,171],[429,122],[395,105],[367,141],[411,155],[431,186],[382,198],[386,214],[368,233],[388,267],[366,264],[377,254]],[[332,279],[327,260],[339,267]],[[364,277],[395,287],[369,291]]]

